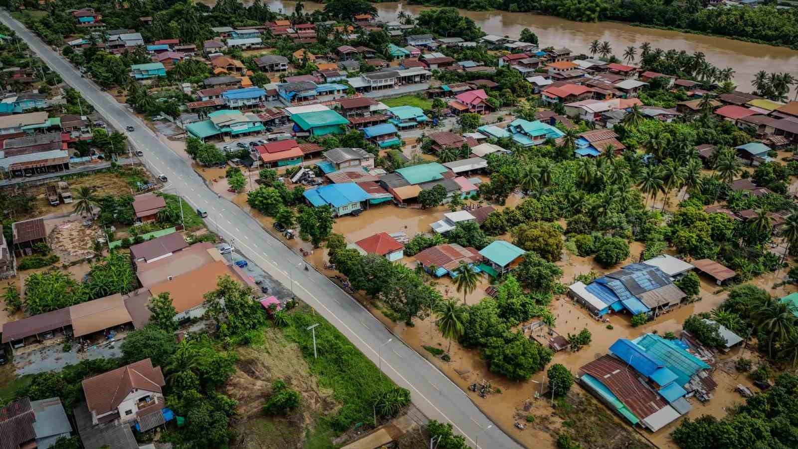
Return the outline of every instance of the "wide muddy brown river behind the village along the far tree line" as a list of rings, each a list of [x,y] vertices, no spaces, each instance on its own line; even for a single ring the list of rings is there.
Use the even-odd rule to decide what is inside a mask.
[[[212,5],[214,0],[202,0]],[[250,3],[244,0],[245,4]],[[266,0],[271,10],[290,13],[296,2],[288,0]],[[323,4],[305,2],[305,10],[313,11]],[[396,20],[400,11],[417,16],[426,6],[405,5],[403,3],[374,3],[379,18],[386,22]],[[692,54],[700,51],[707,61],[720,69],[732,67],[734,81],[743,91],[751,91],[754,74],[760,70],[788,71],[798,77],[798,51],[786,47],[765,46],[727,38],[715,38],[701,34],[687,34],[678,31],[656,30],[614,22],[584,23],[571,22],[563,18],[531,14],[508,13],[505,11],[468,11],[460,14],[472,18],[485,33],[508,35],[518,38],[521,30],[529,28],[537,34],[544,46],[567,47],[576,53],[587,54],[587,47],[594,39],[609,41],[614,54],[621,57],[627,46],[640,46],[650,42],[653,48],[662,50],[685,50]]]

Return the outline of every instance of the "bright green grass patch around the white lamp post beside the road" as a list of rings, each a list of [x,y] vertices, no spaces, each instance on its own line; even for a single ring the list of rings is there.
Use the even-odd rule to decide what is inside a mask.
[[[318,385],[333,391],[333,399],[342,404],[334,414],[320,417],[318,424],[340,433],[356,423],[373,423],[371,398],[378,391],[393,387],[393,382],[310,307],[296,309],[290,321],[290,326],[282,329],[286,339],[299,345]],[[318,359],[313,356],[313,336],[306,330],[316,323]]]

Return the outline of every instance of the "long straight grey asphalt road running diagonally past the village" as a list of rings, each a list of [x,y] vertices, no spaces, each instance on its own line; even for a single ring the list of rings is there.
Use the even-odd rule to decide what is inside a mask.
[[[102,92],[93,82],[82,78],[74,66],[11,18],[5,10],[0,12],[0,21],[16,31],[50,68],[61,74],[66,83],[81,91],[83,97],[111,125],[117,129],[135,127],[135,131],[128,133],[133,149],[144,152],[142,159],[152,173],[168,177],[165,190],[176,189],[192,207],[205,209],[211,230],[231,241],[244,256],[255,261],[286,288],[293,284],[297,296],[334,324],[374,364],[378,363],[381,355],[382,371],[398,385],[411,391],[413,403],[425,415],[430,419],[452,423],[456,431],[466,436],[472,447],[477,447],[477,437],[478,447],[485,449],[520,447],[495,425],[484,431],[492,422],[460,387],[402,343],[326,276],[313,269],[304,271],[302,256],[264,231],[249,214],[208,189],[187,161],[160,141],[124,105]]]

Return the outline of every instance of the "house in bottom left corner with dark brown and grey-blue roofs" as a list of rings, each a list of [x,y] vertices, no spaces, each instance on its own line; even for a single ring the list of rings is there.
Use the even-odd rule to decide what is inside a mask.
[[[72,424],[57,397],[32,401],[27,397],[0,407],[0,447],[47,449],[56,440],[69,438]]]

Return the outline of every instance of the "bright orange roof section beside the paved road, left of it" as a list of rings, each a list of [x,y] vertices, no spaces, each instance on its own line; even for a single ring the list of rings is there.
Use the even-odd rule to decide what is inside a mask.
[[[152,285],[149,291],[152,296],[169,292],[169,297],[172,298],[172,305],[175,306],[176,312],[182,313],[190,308],[195,308],[199,304],[203,304],[205,302],[203,295],[207,292],[213,292],[216,289],[219,277],[222,276],[231,276],[230,269],[227,268],[224,262],[216,261],[192,272],[175,276],[172,280],[164,280],[164,282]],[[233,276],[231,278],[235,280]]]

